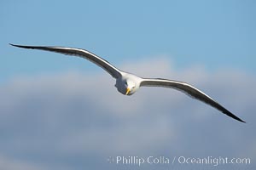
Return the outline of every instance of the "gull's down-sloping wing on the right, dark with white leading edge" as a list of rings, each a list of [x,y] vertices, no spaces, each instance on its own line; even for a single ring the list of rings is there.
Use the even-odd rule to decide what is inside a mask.
[[[159,86],[164,88],[175,88],[185,94],[189,94],[189,96],[191,96],[192,98],[199,99],[202,102],[207,103],[208,105],[212,105],[212,107],[218,109],[218,111],[222,111],[224,114],[236,119],[237,121],[244,122],[239,117],[226,110],[224,106],[219,105],[218,102],[214,101],[207,94],[204,94],[203,92],[201,92],[201,90],[194,88],[186,82],[177,82],[166,79],[143,79],[140,86]]]

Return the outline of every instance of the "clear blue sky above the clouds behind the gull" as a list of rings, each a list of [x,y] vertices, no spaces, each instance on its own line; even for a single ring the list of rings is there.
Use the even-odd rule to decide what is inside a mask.
[[[2,1],[1,82],[18,75],[97,71],[82,59],[9,42],[86,48],[114,65],[165,55],[174,68],[255,72],[254,1]]]

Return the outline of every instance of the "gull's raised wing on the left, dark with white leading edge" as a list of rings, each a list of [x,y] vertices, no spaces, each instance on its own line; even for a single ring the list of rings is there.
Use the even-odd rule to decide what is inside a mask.
[[[64,47],[44,47],[44,46],[24,46],[24,45],[15,45],[11,44],[12,46],[18,48],[31,48],[31,49],[41,49],[45,51],[51,51],[55,53],[67,54],[67,55],[75,55],[82,57],[84,59],[88,59],[91,62],[95,63],[102,67],[105,71],[107,71],[112,77],[118,78],[121,76],[119,69],[108,63],[107,60],[98,57],[96,54],[92,54],[87,50],[80,49],[80,48],[64,48]]]

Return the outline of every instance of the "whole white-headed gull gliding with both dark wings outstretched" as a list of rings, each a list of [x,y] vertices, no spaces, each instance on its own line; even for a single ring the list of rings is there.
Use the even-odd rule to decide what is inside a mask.
[[[219,105],[217,101],[212,99],[207,94],[201,92],[201,90],[191,86],[186,82],[178,82],[175,80],[167,80],[161,78],[142,78],[137,77],[131,73],[120,71],[115,66],[108,63],[107,60],[102,59],[96,54],[92,54],[87,50],[81,48],[65,48],[65,47],[44,47],[44,46],[24,46],[24,45],[15,45],[12,46],[18,48],[31,48],[31,49],[41,49],[45,51],[51,51],[55,53],[67,54],[67,55],[75,55],[82,57],[84,59],[88,59],[96,65],[102,67],[105,71],[107,71],[113,78],[116,79],[115,87],[118,89],[119,93],[125,95],[131,95],[137,92],[140,87],[163,87],[163,88],[174,88],[177,89],[184,94],[188,94],[190,97],[199,99],[202,102],[212,105],[212,107],[218,109],[218,111],[222,111],[227,116],[230,116],[237,121],[242,121],[238,116],[235,116],[230,111],[224,108],[224,106]]]

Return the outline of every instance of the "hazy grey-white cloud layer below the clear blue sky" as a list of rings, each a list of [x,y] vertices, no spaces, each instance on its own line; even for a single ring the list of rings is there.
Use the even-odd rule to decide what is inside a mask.
[[[15,77],[0,87],[0,168],[215,168],[113,165],[108,156],[249,157],[251,164],[238,168],[255,168],[255,75],[209,73],[199,65],[174,71],[170,65],[163,57],[122,68],[141,77],[189,82],[247,123],[172,89],[141,88],[124,96],[103,71]]]

